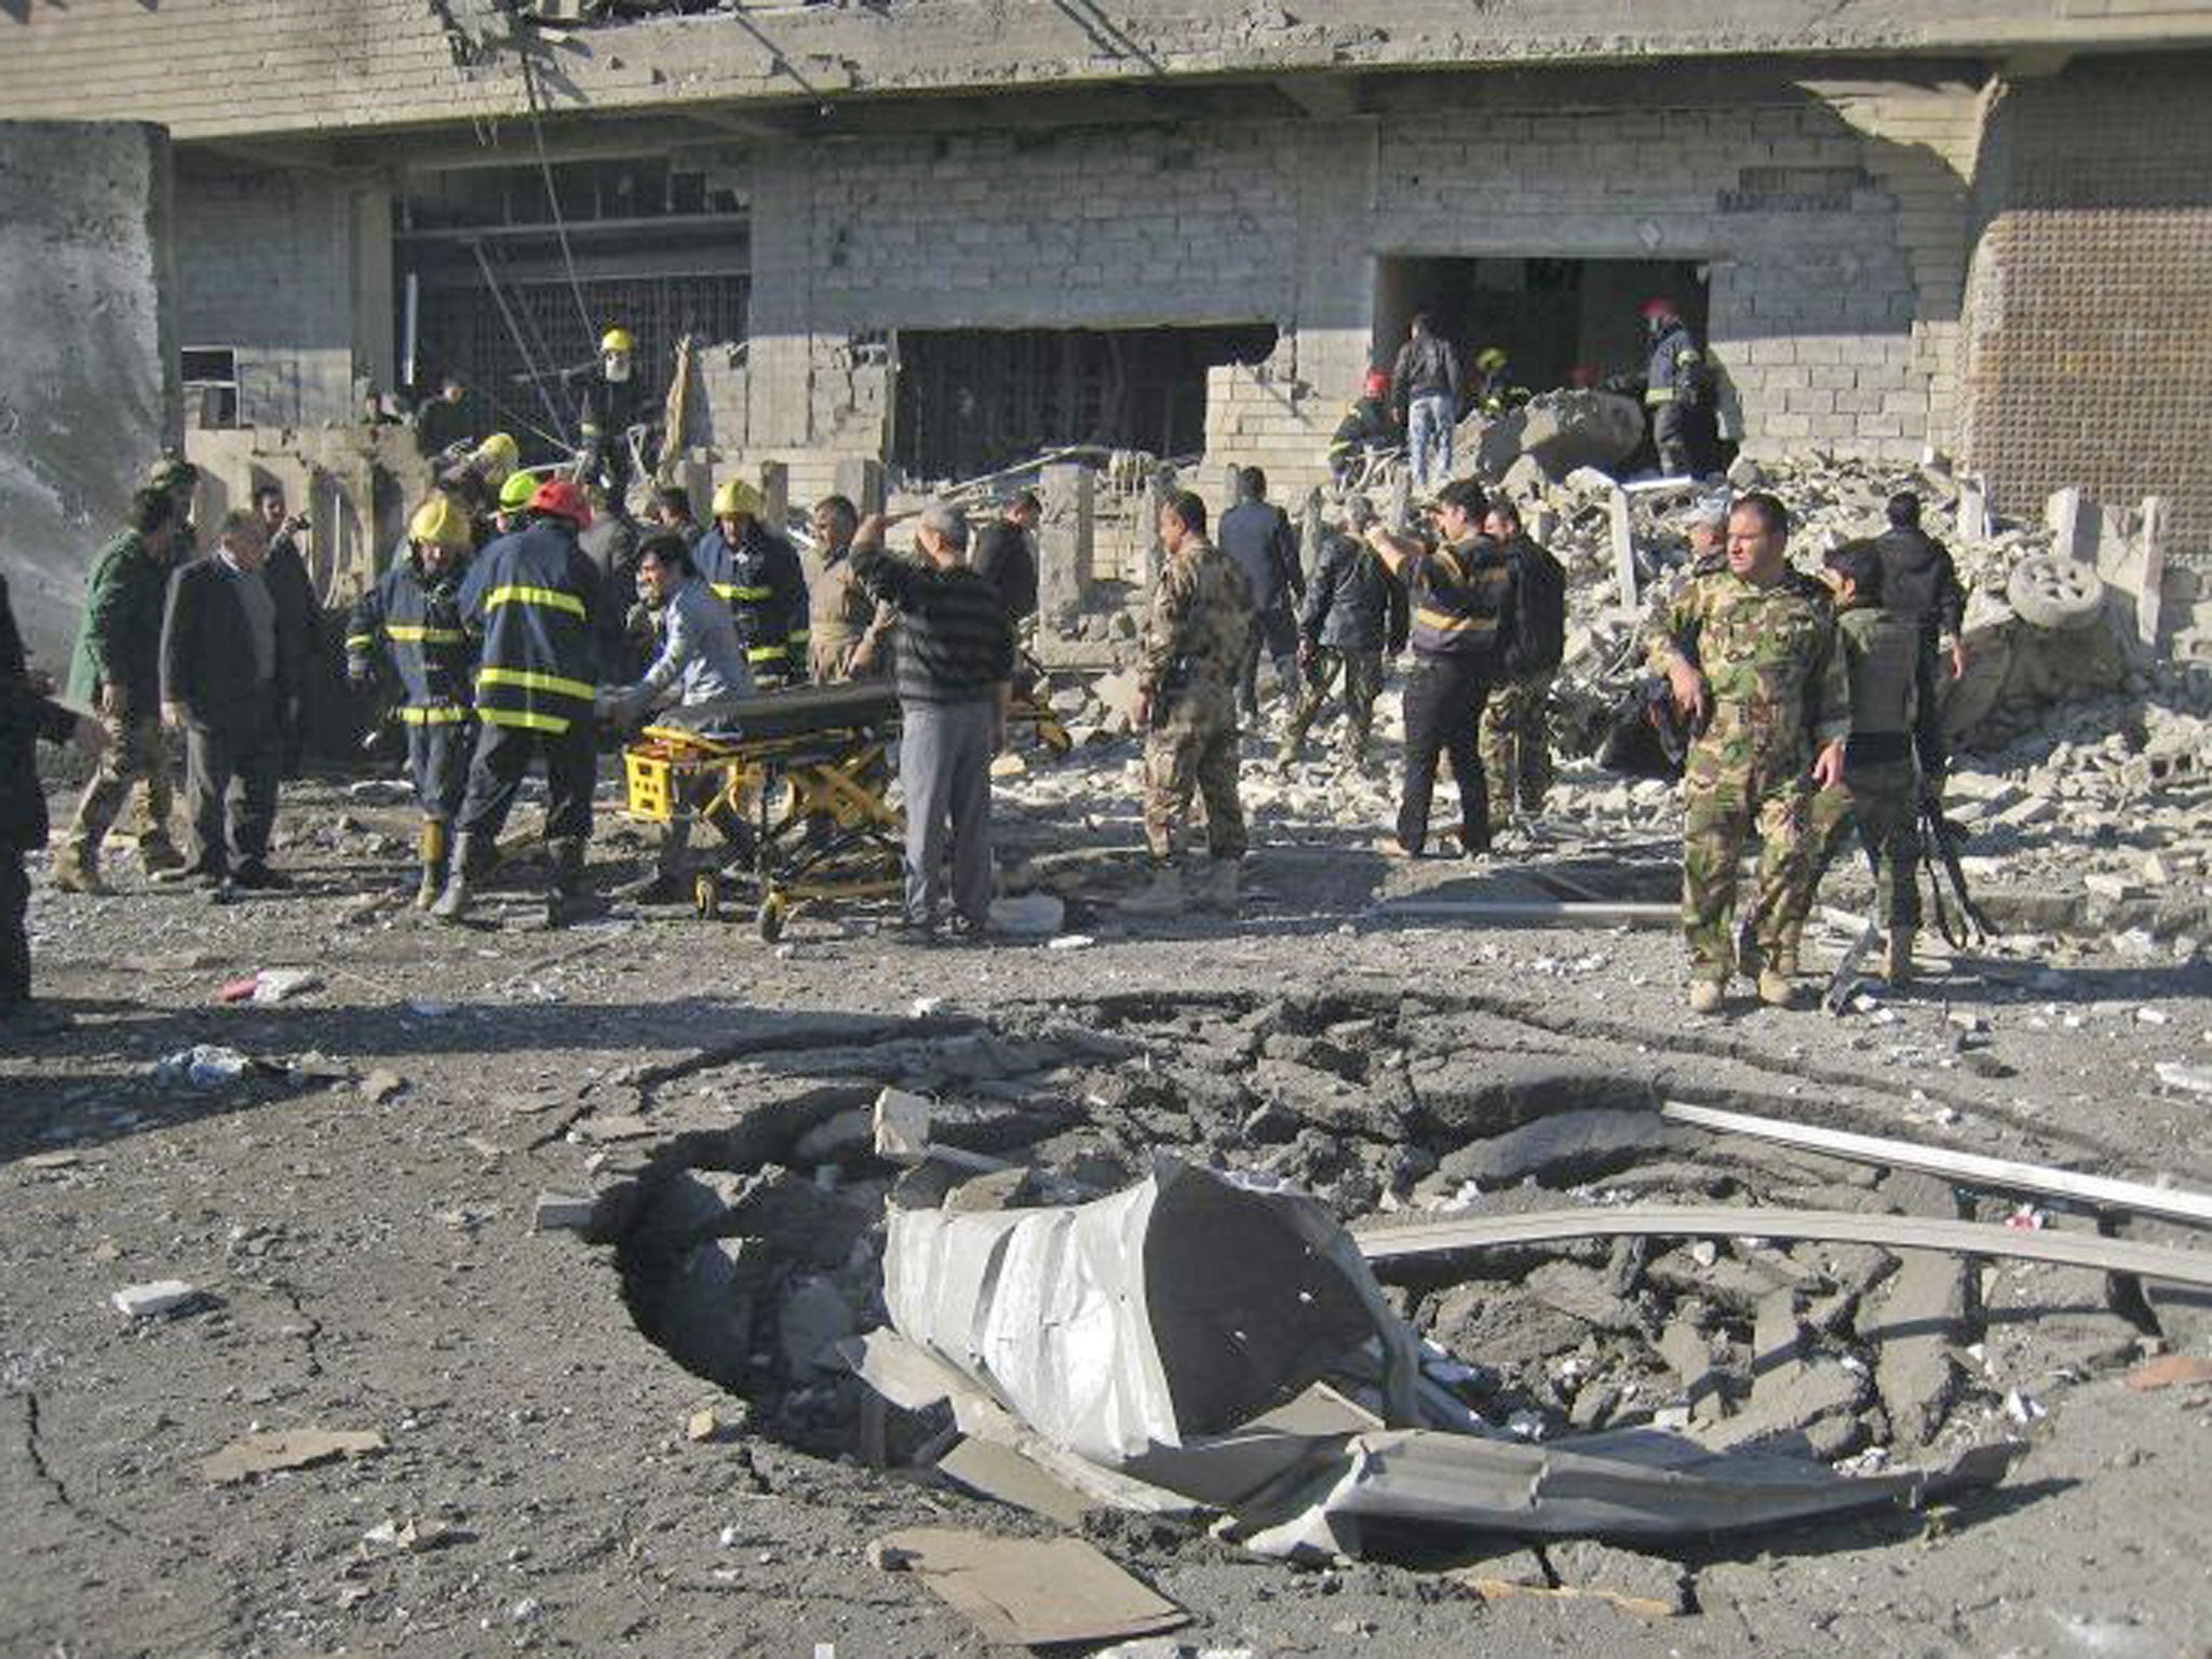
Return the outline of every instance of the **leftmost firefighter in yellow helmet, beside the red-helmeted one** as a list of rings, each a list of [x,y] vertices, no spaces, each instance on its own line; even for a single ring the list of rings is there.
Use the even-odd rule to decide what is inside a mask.
[[[345,624],[345,677],[367,686],[385,668],[400,684],[394,714],[407,730],[407,774],[422,812],[416,909],[429,909],[445,891],[453,814],[460,812],[476,743],[469,714],[473,653],[460,626],[467,571],[469,520],[445,495],[431,495],[407,524],[407,557],[392,562]]]

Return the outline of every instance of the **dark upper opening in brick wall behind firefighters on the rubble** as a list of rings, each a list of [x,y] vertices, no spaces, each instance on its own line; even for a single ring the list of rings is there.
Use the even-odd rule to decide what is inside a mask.
[[[1513,385],[1548,392],[1577,367],[1644,372],[1648,341],[1639,307],[1672,299],[1705,336],[1705,268],[1688,259],[1553,259],[1422,254],[1376,257],[1374,363],[1387,369],[1416,312],[1460,352],[1473,392],[1473,354],[1504,347]]]

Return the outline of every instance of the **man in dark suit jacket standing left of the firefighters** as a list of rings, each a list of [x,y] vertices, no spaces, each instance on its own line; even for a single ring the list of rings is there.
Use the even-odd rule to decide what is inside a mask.
[[[290,885],[268,852],[281,712],[301,692],[307,641],[265,560],[261,520],[226,513],[215,551],[170,577],[161,617],[161,719],[184,730],[192,818],[192,863],[179,874],[217,889]]]

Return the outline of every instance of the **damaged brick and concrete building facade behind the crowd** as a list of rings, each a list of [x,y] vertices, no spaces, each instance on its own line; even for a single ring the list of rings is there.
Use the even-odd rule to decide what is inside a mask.
[[[2183,560],[2208,69],[2154,0],[0,7],[0,117],[170,133],[186,425],[305,476],[272,429],[442,367],[551,456],[544,376],[619,321],[655,394],[697,343],[686,447],[794,500],[1053,445],[1281,495],[1416,310],[1544,387],[1666,294],[1747,453],[2161,493]]]

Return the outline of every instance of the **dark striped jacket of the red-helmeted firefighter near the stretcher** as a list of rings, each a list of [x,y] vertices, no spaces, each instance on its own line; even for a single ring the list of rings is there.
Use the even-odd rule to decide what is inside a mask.
[[[476,717],[551,734],[588,723],[597,611],[599,573],[566,520],[540,518],[487,546],[460,584],[462,626],[482,639]]]

